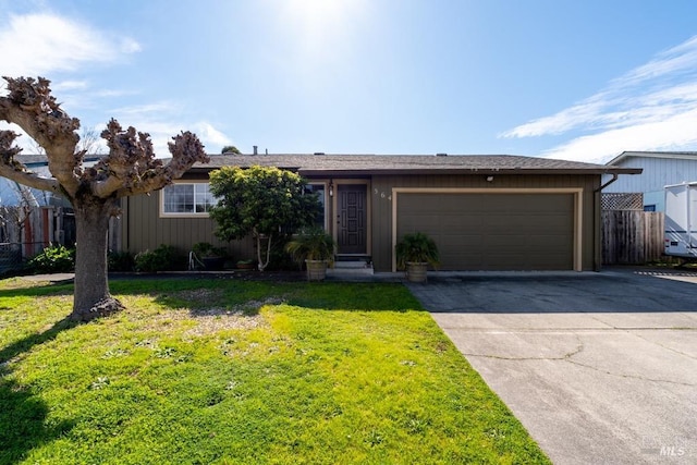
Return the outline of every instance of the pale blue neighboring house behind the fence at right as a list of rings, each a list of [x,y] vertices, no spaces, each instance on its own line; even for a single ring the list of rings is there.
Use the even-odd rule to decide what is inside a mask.
[[[697,151],[623,151],[607,166],[644,170],[637,176],[619,178],[602,192],[643,194],[646,211],[665,211],[667,185],[697,181]],[[611,180],[603,176],[603,183]]]

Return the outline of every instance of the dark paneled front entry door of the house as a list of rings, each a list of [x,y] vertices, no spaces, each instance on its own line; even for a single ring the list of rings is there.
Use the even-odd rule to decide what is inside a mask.
[[[337,186],[337,245],[339,254],[367,253],[366,189],[365,184],[340,184]]]

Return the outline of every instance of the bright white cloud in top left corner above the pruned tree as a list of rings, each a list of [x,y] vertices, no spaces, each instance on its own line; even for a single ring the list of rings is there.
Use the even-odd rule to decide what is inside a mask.
[[[110,38],[89,25],[53,14],[11,15],[0,24],[0,63],[9,76],[74,71],[110,63],[140,49],[131,38]]]

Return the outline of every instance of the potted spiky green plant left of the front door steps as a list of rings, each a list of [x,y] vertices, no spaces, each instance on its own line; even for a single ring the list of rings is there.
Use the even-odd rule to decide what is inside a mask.
[[[293,261],[305,264],[308,281],[321,281],[334,260],[334,240],[321,228],[308,228],[285,244],[285,252]]]

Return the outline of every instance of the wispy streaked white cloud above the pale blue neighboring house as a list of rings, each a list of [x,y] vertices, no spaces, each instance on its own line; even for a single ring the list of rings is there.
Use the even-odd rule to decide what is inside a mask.
[[[697,144],[697,36],[611,81],[598,94],[501,137],[585,132],[547,150],[554,158],[607,161],[623,150],[678,150]]]

